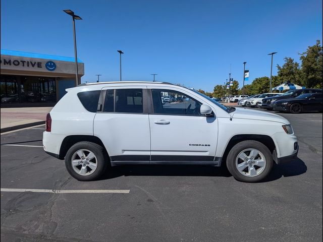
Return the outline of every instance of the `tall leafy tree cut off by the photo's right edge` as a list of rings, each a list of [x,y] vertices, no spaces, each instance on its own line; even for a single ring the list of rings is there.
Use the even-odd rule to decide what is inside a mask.
[[[307,50],[300,54],[302,72],[304,74],[303,85],[307,88],[322,88],[322,46],[320,41],[308,46]]]

